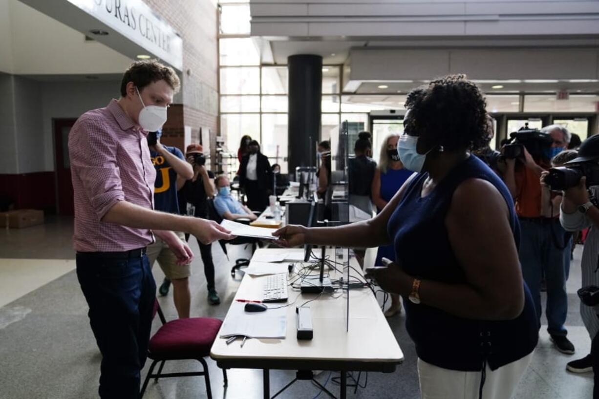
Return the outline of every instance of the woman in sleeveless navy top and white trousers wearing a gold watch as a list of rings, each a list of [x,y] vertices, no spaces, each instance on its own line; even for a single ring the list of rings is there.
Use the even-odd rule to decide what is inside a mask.
[[[287,226],[279,243],[392,243],[372,270],[404,297],[427,398],[509,399],[539,338],[518,261],[519,225],[503,182],[470,150],[485,146],[486,101],[463,75],[407,98],[399,153],[418,172],[373,219],[335,228]]]

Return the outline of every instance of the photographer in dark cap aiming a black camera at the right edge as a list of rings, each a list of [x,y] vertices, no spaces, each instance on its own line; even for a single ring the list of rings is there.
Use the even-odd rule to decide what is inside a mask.
[[[564,191],[559,211],[564,229],[574,232],[590,227],[582,252],[582,286],[597,286],[599,209],[594,198],[599,193],[599,136],[583,141],[577,158],[567,162],[565,168],[551,170],[547,175],[545,182],[553,190]],[[595,371],[595,398],[599,398],[599,343],[595,342],[599,318],[595,309],[583,303],[580,304],[580,315],[593,340],[591,354],[569,362],[567,370],[574,373]]]

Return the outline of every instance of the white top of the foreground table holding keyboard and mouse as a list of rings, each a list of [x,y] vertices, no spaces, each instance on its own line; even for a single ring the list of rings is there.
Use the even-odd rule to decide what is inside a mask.
[[[258,249],[256,253],[262,251],[303,252],[302,249]],[[328,255],[333,254],[334,249],[329,249]],[[352,265],[358,268],[355,259],[352,260]],[[355,275],[355,272],[352,274]],[[335,271],[331,272],[331,277],[339,276]],[[252,277],[246,274],[235,299],[260,300],[264,279],[265,276]],[[342,295],[341,290],[334,295]],[[301,294],[289,287],[288,303],[294,302],[296,298],[297,301],[286,308],[286,339],[253,338],[240,347],[238,343],[227,345],[224,338],[216,338],[210,356],[217,361],[237,359],[237,367],[245,367],[240,365],[240,362],[243,362],[247,363],[248,368],[254,368],[254,362],[260,364],[255,368],[264,368],[262,365],[271,362],[272,368],[283,368],[274,364],[283,365],[291,361],[398,364],[403,361],[403,352],[370,289],[352,289],[349,295],[349,332],[346,331],[346,297],[335,299],[330,294],[322,294],[317,300],[306,305],[310,307],[312,314],[313,339],[298,340],[295,308],[317,297],[317,294]],[[285,303],[268,304],[271,307],[277,305]]]

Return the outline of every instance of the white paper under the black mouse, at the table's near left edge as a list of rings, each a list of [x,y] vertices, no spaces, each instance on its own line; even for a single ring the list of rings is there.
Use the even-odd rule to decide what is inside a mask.
[[[234,302],[229,308],[220,338],[244,335],[250,338],[278,338],[287,335],[287,311],[283,307],[265,312],[246,312],[245,304]]]

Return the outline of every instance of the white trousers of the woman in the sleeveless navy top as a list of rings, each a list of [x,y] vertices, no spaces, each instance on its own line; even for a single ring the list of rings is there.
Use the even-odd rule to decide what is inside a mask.
[[[530,364],[533,353],[495,371],[486,366],[483,399],[510,399]],[[422,399],[478,399],[480,371],[456,371],[437,367],[418,359]]]

